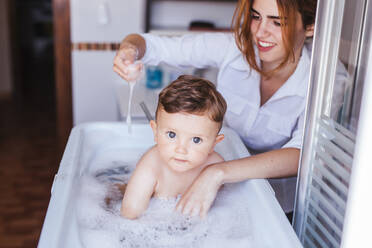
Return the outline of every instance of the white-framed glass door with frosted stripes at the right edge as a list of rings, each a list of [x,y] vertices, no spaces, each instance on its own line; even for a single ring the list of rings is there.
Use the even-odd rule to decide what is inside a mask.
[[[363,190],[355,190],[361,183],[372,188],[372,179],[366,179],[372,167],[365,159],[372,138],[367,128],[368,122],[369,128],[372,125],[367,118],[372,113],[372,76],[367,70],[372,69],[371,17],[367,0],[318,1],[294,213],[294,228],[304,247],[370,246],[357,245],[367,240],[368,229],[359,225],[350,236],[350,223],[361,216],[366,223],[372,208],[367,203],[370,194],[361,196]],[[369,210],[356,214],[356,203]]]

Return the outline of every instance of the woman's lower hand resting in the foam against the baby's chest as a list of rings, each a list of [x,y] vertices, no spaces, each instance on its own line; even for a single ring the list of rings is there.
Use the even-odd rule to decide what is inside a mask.
[[[185,215],[205,217],[222,184],[222,176],[217,165],[206,167],[181,197],[176,210]]]

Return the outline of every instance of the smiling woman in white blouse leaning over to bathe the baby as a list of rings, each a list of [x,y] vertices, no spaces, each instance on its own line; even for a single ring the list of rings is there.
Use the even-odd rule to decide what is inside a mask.
[[[217,87],[228,103],[226,123],[253,154],[204,169],[177,210],[204,216],[224,183],[296,176],[310,69],[304,43],[313,35],[315,11],[316,0],[240,0],[233,35],[133,34],[123,40],[114,71],[124,79],[136,59],[152,65],[218,67]],[[284,181],[271,183],[290,212],[295,179]]]

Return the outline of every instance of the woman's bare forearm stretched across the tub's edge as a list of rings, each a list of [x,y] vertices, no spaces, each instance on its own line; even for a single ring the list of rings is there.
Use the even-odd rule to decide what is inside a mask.
[[[221,183],[251,178],[280,178],[297,175],[300,150],[283,148],[258,155],[216,164]]]

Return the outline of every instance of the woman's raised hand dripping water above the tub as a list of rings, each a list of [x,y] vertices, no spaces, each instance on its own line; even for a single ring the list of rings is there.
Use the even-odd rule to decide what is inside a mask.
[[[139,78],[143,64],[135,62],[138,58],[138,50],[131,44],[124,44],[120,47],[114,58],[114,71],[127,82]]]

